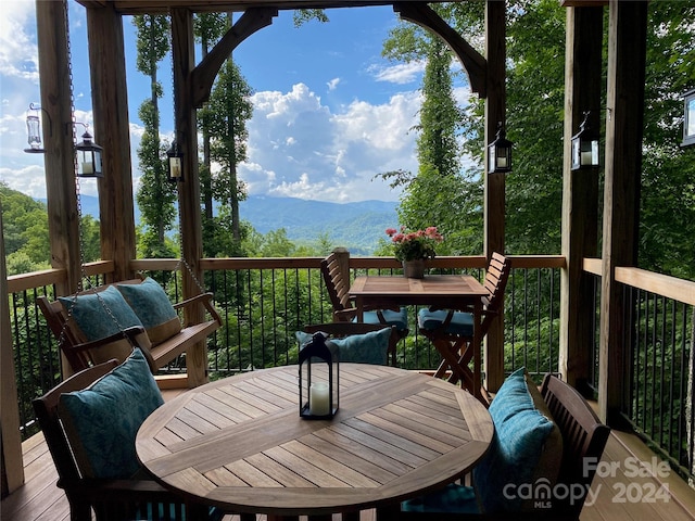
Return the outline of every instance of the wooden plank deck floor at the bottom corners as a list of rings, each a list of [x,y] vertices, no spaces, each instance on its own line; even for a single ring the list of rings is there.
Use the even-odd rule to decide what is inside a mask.
[[[26,441],[23,453],[26,483],[2,500],[0,519],[68,521],[67,499],[55,486],[58,474],[43,436],[38,434]],[[581,521],[695,520],[695,490],[673,472],[652,472],[659,470],[652,458],[653,454],[635,436],[614,431],[599,475],[592,485],[596,499],[584,506]],[[643,466],[640,471],[637,462]],[[611,467],[615,472],[608,471]],[[653,473],[661,475],[647,475]],[[361,521],[374,520],[371,510],[361,516]],[[225,521],[238,518],[228,516]]]

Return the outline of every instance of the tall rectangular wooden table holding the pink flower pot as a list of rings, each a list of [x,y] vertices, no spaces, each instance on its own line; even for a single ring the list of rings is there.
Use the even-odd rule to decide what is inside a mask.
[[[469,307],[473,315],[472,364],[470,371],[460,365],[455,353],[444,345],[434,343],[442,358],[465,385],[466,376],[472,372],[471,393],[482,399],[482,298],[489,296],[488,290],[470,275],[428,275],[424,279],[387,276],[356,277],[350,287],[350,296],[355,300],[357,320],[365,308],[392,308],[396,306],[431,306],[438,309],[465,309]]]

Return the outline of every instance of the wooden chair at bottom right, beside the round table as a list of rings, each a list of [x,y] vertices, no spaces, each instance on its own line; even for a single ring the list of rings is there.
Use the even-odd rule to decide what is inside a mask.
[[[527,384],[533,385],[533,382],[527,381]],[[534,495],[530,503],[521,503],[522,507],[518,510],[496,510],[485,511],[481,505],[490,506],[481,493],[485,487],[490,487],[490,483],[484,481],[481,475],[477,474],[480,466],[473,469],[472,485],[464,486],[459,484],[448,485],[446,488],[433,492],[429,495],[405,501],[399,510],[387,510],[384,518],[391,518],[395,513],[395,518],[404,521],[472,521],[472,520],[507,520],[507,521],[577,521],[584,506],[585,499],[592,484],[592,480],[596,473],[596,467],[602,458],[604,448],[608,441],[610,429],[603,424],[595,415],[591,406],[581,396],[581,394],[566,382],[553,374],[546,374],[541,392],[538,387],[529,389],[533,396],[533,404],[538,403],[538,409],[544,417],[549,418],[554,422],[553,429],[559,430],[561,436],[561,448],[547,450],[547,442],[544,450],[548,457],[554,458],[553,473],[556,481],[549,483],[545,478],[538,478],[538,473],[532,474],[535,479],[530,483],[534,485],[534,494],[536,494],[544,485],[547,485],[543,492],[547,495]],[[497,399],[497,397],[495,397]],[[494,403],[494,401],[493,401]],[[504,411],[504,414],[508,414]],[[501,414],[500,417],[503,415]],[[495,443],[503,444],[505,436],[504,428],[498,424],[500,417],[495,421],[495,439],[493,445],[485,458],[496,457]],[[518,427],[518,424],[515,424]],[[532,430],[530,428],[530,430]],[[517,429],[509,432],[509,436],[518,436]],[[529,431],[530,432],[530,431]],[[513,442],[507,442],[513,443]],[[483,460],[484,461],[484,460]],[[539,466],[541,463],[539,462]],[[505,479],[513,475],[514,469],[505,472],[504,468],[495,469],[502,475],[501,483]],[[484,478],[490,478],[490,473],[483,473]],[[492,478],[494,480],[494,476]],[[528,491],[527,491],[528,492]],[[490,493],[489,493],[490,494]],[[500,494],[502,495],[502,494]],[[492,498],[495,499],[494,497]],[[378,518],[379,519],[379,518]]]

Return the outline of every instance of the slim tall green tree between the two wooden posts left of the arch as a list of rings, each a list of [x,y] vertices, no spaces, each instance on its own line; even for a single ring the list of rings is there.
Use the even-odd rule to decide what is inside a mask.
[[[175,189],[167,181],[164,148],[160,139],[159,99],[162,86],[157,80],[157,64],[169,50],[169,22],[165,15],[138,15],[132,23],[137,29],[138,71],[150,78],[150,98],[142,102],[138,115],[144,132],[138,148],[138,160],[142,171],[137,202],[142,219],[139,254],[146,257],[169,257],[173,252],[166,233],[176,216]]]

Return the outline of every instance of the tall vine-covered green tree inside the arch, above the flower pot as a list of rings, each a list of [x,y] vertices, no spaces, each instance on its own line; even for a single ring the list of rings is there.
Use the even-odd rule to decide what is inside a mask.
[[[460,165],[464,117],[453,96],[451,50],[413,25],[400,25],[384,42],[383,54],[409,62],[426,60],[418,130],[417,176],[404,170],[382,174],[403,186],[399,219],[409,229],[437,226],[445,237],[440,254],[471,254],[482,249],[482,198],[479,169]]]

